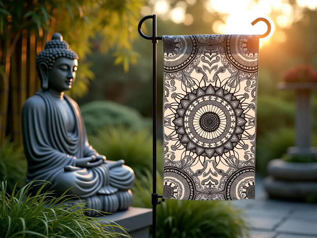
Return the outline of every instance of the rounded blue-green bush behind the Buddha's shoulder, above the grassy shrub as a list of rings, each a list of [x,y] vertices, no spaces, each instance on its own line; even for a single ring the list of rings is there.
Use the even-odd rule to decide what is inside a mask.
[[[105,126],[122,125],[135,130],[149,129],[151,119],[144,118],[132,108],[111,101],[93,101],[81,106],[87,134],[94,135]]]

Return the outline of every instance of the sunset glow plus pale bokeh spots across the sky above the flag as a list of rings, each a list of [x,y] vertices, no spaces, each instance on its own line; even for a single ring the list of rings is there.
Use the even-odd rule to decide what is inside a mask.
[[[264,34],[267,26],[264,22],[251,25],[258,17],[265,17],[271,23],[270,34],[260,39],[260,46],[269,43],[273,38],[279,42],[285,42],[286,35],[282,29],[290,27],[297,21],[305,19],[304,10],[316,10],[317,0],[296,0],[296,4],[290,4],[290,0],[206,0],[205,11],[202,18],[194,19],[187,13],[187,8],[196,4],[196,0],[178,1],[171,5],[172,0],[149,0],[151,8],[145,7],[144,12],[157,14],[163,20],[171,20],[177,24],[190,25],[194,21],[205,21],[211,24],[211,29],[217,34]],[[171,7],[172,6],[172,7]],[[212,15],[220,15],[220,20],[209,20]],[[275,29],[277,32],[275,34]],[[206,33],[208,34],[208,32]],[[272,37],[274,36],[274,37]]]

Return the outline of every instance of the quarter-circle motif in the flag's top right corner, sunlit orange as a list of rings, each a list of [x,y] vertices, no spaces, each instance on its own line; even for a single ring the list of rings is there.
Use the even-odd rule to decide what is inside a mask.
[[[226,57],[243,72],[257,72],[259,37],[250,35],[226,35]]]

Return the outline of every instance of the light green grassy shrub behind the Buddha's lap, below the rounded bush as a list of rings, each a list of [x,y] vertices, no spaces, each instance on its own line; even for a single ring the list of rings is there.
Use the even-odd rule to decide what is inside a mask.
[[[100,129],[95,136],[89,136],[89,143],[108,160],[124,160],[136,171],[152,169],[152,134],[147,130],[135,131],[122,126]],[[157,142],[157,168],[163,171],[163,148]]]

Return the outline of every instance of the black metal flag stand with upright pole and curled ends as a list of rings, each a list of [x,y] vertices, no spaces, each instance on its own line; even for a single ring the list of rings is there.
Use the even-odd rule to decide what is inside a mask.
[[[145,20],[152,19],[152,36],[146,36],[143,34],[141,30],[141,26]],[[268,36],[271,31],[270,22],[263,17],[259,17],[254,20],[251,24],[254,25],[260,21],[263,21],[267,24],[268,30],[260,35],[260,38],[264,38]],[[156,15],[148,15],[143,17],[138,25],[138,31],[140,36],[142,36],[146,40],[152,40],[153,44],[153,192],[152,192],[152,206],[153,206],[153,217],[152,217],[152,232],[153,238],[156,238],[156,206],[164,202],[163,195],[158,195],[156,192],[156,44],[159,40],[162,40],[162,36],[156,36]],[[162,199],[162,201],[159,200]]]

